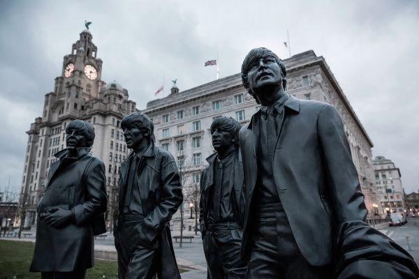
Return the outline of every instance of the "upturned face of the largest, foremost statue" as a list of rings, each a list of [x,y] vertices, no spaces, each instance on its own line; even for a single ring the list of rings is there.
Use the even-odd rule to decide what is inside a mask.
[[[274,56],[263,56],[249,66],[247,72],[249,87],[254,93],[259,93],[263,86],[282,83],[281,68]]]

